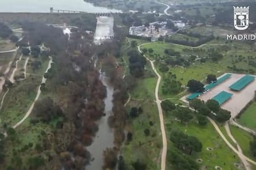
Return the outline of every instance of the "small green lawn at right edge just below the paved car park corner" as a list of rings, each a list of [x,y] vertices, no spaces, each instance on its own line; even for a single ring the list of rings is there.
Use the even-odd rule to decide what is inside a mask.
[[[253,102],[239,118],[239,123],[256,131],[256,102]]]

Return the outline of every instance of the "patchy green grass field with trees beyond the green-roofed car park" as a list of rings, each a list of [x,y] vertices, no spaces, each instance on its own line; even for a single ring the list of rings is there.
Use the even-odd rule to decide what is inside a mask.
[[[184,59],[188,59],[188,56],[190,54],[198,55],[198,57],[200,58],[208,57],[207,51],[212,48],[216,49],[224,55],[223,59],[221,59],[219,62],[213,62],[211,59],[207,59],[206,63],[200,63],[200,61],[197,60],[189,67],[169,67],[169,71],[175,74],[177,76],[177,80],[184,85],[186,85],[190,79],[204,81],[208,74],[220,76],[225,72],[247,73],[245,71],[236,72],[234,70],[227,68],[228,66],[232,67],[234,64],[236,65],[237,68],[247,68],[256,71],[255,67],[248,64],[247,55],[245,55],[256,54],[255,51],[250,49],[249,44],[242,44],[239,42],[234,42],[233,44],[224,44],[224,42],[220,41],[219,45],[217,46],[217,42],[216,40],[214,40],[213,42],[208,42],[208,44],[205,44],[204,46],[197,48],[180,46],[171,43],[156,42],[147,44],[143,46],[142,49],[153,49],[153,54],[147,54],[147,56],[150,57],[150,59],[152,60],[164,60],[168,58],[168,55],[164,54],[164,49],[174,49],[174,51],[181,52],[181,55]],[[242,55],[242,60],[239,59],[239,55]],[[157,69],[161,67],[161,63],[159,63],[159,65],[156,65],[156,67]],[[161,73],[161,71],[158,72],[163,76],[163,73]],[[173,95],[166,96],[161,94],[160,91],[160,97],[173,97]]]

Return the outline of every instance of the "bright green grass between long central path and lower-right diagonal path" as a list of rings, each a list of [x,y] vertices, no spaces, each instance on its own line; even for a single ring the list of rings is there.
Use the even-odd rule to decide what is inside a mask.
[[[198,126],[195,122],[189,124],[177,123],[174,118],[165,118],[166,130],[169,134],[174,129],[179,129],[190,136],[197,137],[203,144],[202,152],[192,153],[192,157],[196,160],[201,158],[203,160],[202,166],[206,166],[207,169],[215,169],[215,166],[221,166],[223,169],[236,169],[234,163],[240,163],[239,158],[221,139],[214,127],[208,122],[207,126]],[[169,149],[171,146],[169,146]],[[207,147],[213,148],[210,152]],[[169,166],[168,166],[169,168]]]

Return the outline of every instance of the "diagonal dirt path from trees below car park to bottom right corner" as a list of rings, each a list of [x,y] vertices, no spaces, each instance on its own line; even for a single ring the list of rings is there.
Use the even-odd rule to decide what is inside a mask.
[[[249,163],[252,163],[254,165],[256,165],[256,162],[251,160],[250,158],[247,158],[246,156],[244,156],[243,153],[239,152],[236,150],[236,148],[233,147],[233,145],[231,145],[229,143],[229,141],[226,139],[226,137],[223,135],[223,133],[220,131],[218,125],[215,123],[215,121],[213,121],[213,119],[207,117],[208,120],[210,121],[210,123],[213,125],[213,127],[215,127],[215,130],[218,132],[218,134],[221,136],[221,138],[224,140],[224,142],[228,145],[229,148],[231,148],[231,150],[233,150],[234,153],[237,154],[237,156],[239,156],[239,158],[241,159],[242,163],[244,163],[245,168],[250,170],[250,167],[247,167],[247,161]]]

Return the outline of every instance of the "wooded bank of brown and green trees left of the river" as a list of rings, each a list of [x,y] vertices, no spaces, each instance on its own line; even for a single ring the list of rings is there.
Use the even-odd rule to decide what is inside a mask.
[[[27,77],[10,87],[1,110],[14,117],[1,114],[1,132],[8,134],[1,140],[7,153],[1,152],[1,169],[82,168],[90,160],[84,147],[92,143],[97,131],[95,121],[103,116],[106,93],[98,71],[90,63],[95,51],[95,46],[90,46],[92,36],[80,31],[68,41],[62,30],[53,26],[35,22],[22,22],[21,26],[27,32],[24,39],[29,36],[26,41],[33,47],[33,54],[28,60]],[[46,55],[37,53],[37,46],[42,44],[50,49]],[[53,63],[45,74],[48,55],[53,57]],[[48,81],[41,86],[32,114],[12,129],[35,99],[43,76]],[[17,111],[19,115],[15,115]]]

